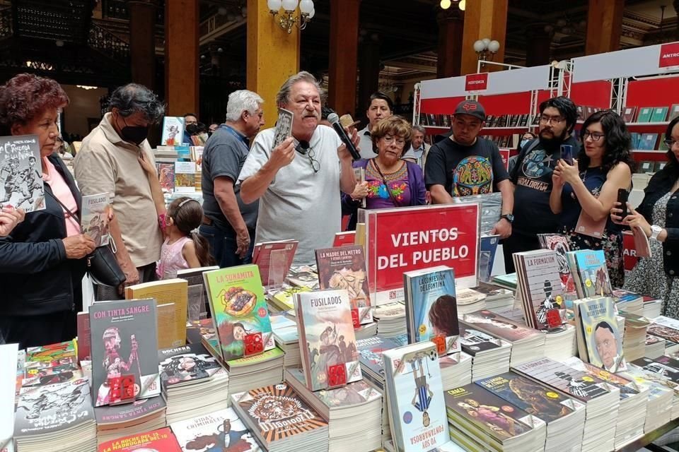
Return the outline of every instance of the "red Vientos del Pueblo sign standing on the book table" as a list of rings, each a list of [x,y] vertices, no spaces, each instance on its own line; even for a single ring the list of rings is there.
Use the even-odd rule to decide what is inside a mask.
[[[366,264],[376,304],[404,299],[403,273],[455,268],[455,285],[477,285],[478,204],[366,211]]]

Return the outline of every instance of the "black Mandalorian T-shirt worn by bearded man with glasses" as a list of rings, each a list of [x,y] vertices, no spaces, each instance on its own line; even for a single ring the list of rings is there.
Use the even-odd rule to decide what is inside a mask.
[[[539,138],[538,138],[539,140]],[[552,172],[561,158],[561,143],[549,146],[538,141],[526,143],[511,170],[514,190],[513,234],[535,236],[555,233],[559,218],[550,208]],[[580,143],[569,136],[563,144],[573,146],[573,157],[578,155]]]

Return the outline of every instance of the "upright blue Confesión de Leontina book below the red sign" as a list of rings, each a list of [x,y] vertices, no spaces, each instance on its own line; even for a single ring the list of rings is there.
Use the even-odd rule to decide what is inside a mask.
[[[460,351],[455,270],[445,266],[406,272],[405,311],[409,343],[445,338],[445,352]]]

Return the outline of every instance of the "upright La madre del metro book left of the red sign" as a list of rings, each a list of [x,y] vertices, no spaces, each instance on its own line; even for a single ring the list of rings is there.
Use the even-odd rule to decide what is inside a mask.
[[[373,321],[363,246],[317,249],[316,267],[321,290],[347,290],[352,309],[359,310],[361,325]]]

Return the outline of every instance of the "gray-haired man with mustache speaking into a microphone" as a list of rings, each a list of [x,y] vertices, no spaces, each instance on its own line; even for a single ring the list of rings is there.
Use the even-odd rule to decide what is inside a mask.
[[[260,200],[256,242],[299,241],[296,263],[313,263],[314,250],[332,246],[342,220],[340,190],[356,185],[352,155],[337,133],[318,124],[320,87],[308,72],[291,76],[276,97],[291,111],[292,136],[274,148],[275,129],[262,131],[240,171],[240,196]],[[354,145],[359,142],[352,133]]]

